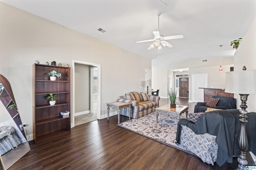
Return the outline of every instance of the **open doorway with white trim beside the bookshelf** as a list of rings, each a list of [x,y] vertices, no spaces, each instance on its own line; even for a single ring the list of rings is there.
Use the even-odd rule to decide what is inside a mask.
[[[72,125],[100,119],[100,64],[72,61]]]

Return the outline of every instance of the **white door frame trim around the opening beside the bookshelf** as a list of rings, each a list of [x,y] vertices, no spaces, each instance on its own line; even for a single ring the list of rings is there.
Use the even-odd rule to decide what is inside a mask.
[[[97,92],[97,119],[100,119],[100,110],[101,110],[101,64],[96,64],[96,63],[88,63],[85,61],[77,61],[77,60],[72,60],[72,122],[71,122],[71,128],[75,126],[75,63],[77,64],[84,64],[84,65],[91,65],[91,66],[96,66],[98,68],[98,92]],[[90,91],[93,89],[90,88]],[[92,100],[92,98],[90,98]],[[93,101],[90,101],[93,102]]]

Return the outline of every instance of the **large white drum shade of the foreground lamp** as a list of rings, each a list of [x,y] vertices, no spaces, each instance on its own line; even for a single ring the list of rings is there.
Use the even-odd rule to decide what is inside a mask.
[[[256,94],[256,70],[226,72],[225,92]]]

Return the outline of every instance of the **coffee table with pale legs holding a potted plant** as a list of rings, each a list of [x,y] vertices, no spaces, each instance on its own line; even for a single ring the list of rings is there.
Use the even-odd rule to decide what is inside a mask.
[[[170,104],[166,104],[161,107],[157,107],[156,109],[156,123],[158,123],[158,113],[165,113],[173,116],[178,116],[180,118],[180,115],[184,112],[186,112],[186,119],[188,117],[188,106],[182,106],[182,105],[176,105],[176,108],[170,107]]]

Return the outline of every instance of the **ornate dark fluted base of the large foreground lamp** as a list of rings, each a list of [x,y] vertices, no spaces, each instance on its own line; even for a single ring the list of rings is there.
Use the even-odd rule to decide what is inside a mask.
[[[240,111],[240,119],[239,121],[241,122],[241,127],[240,127],[240,133],[238,137],[238,148],[240,150],[239,157],[237,158],[239,164],[237,167],[237,170],[246,170],[246,165],[248,164],[248,161],[246,160],[246,151],[248,150],[248,139],[246,135],[246,123],[248,122],[246,118],[248,117],[246,115],[247,106],[246,106],[246,101],[249,96],[249,94],[239,94],[240,95],[240,100],[241,100],[241,109]]]

